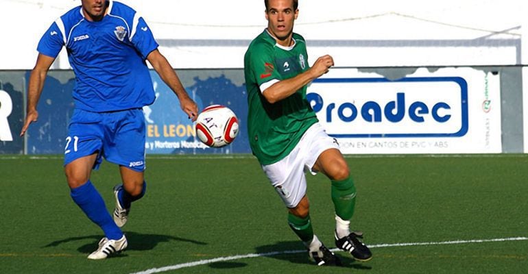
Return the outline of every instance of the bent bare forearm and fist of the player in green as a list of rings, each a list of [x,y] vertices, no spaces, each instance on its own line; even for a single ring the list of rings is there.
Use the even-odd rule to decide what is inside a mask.
[[[276,103],[293,95],[293,93],[297,92],[297,90],[303,86],[309,84],[324,73],[327,73],[328,69],[333,65],[334,60],[331,55],[321,56],[320,58],[317,58],[313,66],[307,71],[304,71],[304,73],[300,73],[296,77],[291,77],[272,84],[272,86],[262,90],[262,95],[264,95],[269,103]]]

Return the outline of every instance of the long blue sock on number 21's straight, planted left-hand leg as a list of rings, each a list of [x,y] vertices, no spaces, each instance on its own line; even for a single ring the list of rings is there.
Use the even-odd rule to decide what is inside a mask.
[[[82,186],[72,188],[70,195],[71,199],[88,216],[88,219],[103,229],[106,238],[119,240],[123,237],[123,232],[112,220],[112,216],[106,210],[103,198],[90,180]]]

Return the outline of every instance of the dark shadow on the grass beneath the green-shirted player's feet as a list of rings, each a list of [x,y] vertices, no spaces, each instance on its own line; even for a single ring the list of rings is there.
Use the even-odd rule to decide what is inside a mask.
[[[315,263],[310,260],[307,251],[304,249],[304,245],[300,241],[276,242],[273,245],[263,245],[256,247],[256,252],[265,254],[265,257],[276,260],[286,260],[294,264],[313,264],[315,266]],[[337,252],[335,255],[341,259],[341,267],[359,270],[372,269],[371,266],[357,262],[344,252]]]

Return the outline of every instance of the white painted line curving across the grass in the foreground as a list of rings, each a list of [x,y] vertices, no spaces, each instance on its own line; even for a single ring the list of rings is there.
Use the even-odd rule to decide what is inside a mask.
[[[498,238],[498,239],[485,239],[485,240],[450,240],[446,242],[402,242],[402,243],[396,243],[396,244],[379,244],[379,245],[369,245],[371,249],[373,248],[379,248],[379,247],[411,247],[411,246],[419,246],[419,245],[460,245],[460,244],[468,244],[468,243],[480,243],[480,242],[507,242],[507,241],[513,241],[513,240],[528,240],[527,237],[514,237],[514,238]],[[339,249],[331,249],[331,251],[340,251]],[[152,273],[160,273],[165,271],[171,271],[176,269],[184,269],[186,267],[191,266],[199,266],[202,264],[211,264],[213,262],[226,262],[230,260],[239,260],[239,259],[245,259],[245,258],[256,258],[256,257],[269,257],[269,256],[276,256],[280,254],[291,254],[291,253],[302,253],[306,252],[306,250],[289,250],[289,251],[273,251],[268,253],[250,253],[245,255],[236,255],[236,256],[229,256],[229,257],[219,257],[209,260],[200,260],[195,262],[186,262],[184,264],[174,264],[171,266],[163,266],[157,269],[147,269],[145,271],[135,272],[131,274],[152,274]]]

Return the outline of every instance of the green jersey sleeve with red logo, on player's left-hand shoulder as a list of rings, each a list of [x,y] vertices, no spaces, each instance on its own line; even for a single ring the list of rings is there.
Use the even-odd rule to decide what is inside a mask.
[[[273,79],[281,80],[275,68],[274,51],[271,46],[254,45],[249,58],[250,70],[258,86]]]

